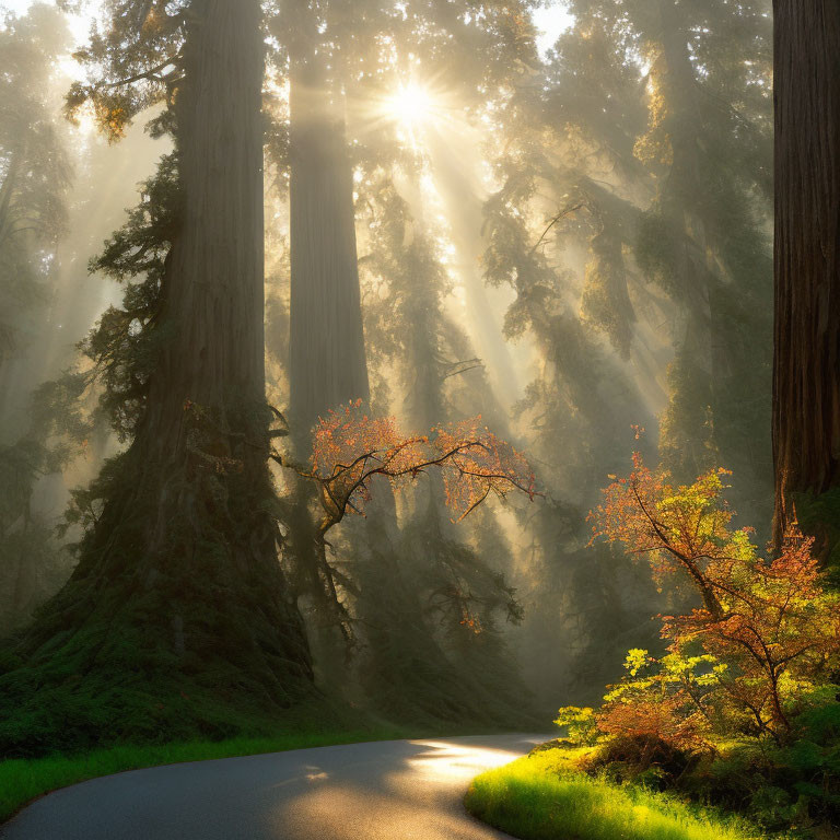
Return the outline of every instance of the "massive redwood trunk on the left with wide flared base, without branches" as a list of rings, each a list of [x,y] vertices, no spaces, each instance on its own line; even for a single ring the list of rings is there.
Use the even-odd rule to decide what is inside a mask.
[[[107,670],[109,697],[129,698],[112,701],[117,730],[135,723],[120,711],[138,705],[131,692],[162,696],[160,711],[139,703],[159,732],[189,732],[184,716],[230,731],[207,698],[271,713],[311,679],[267,467],[260,4],[194,0],[189,12],[180,226],[145,413],[119,468],[103,472],[105,506],[77,571],[24,643],[35,664],[74,662],[82,691]],[[166,699],[178,693],[187,711]]]

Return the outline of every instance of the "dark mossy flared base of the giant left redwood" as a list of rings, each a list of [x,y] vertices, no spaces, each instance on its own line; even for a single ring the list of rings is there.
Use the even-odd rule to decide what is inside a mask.
[[[133,475],[131,452],[121,457],[117,475]],[[240,480],[218,481],[221,497],[187,485],[158,550],[148,534],[159,504],[136,488],[107,494],[72,578],[0,656],[2,755],[267,731],[315,696],[276,526],[259,503],[270,495]]]

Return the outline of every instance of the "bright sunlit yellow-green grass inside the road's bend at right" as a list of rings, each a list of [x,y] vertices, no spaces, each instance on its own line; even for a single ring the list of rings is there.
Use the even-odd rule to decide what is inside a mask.
[[[468,810],[523,840],[755,840],[744,824],[575,771],[574,751],[547,749],[482,773]]]

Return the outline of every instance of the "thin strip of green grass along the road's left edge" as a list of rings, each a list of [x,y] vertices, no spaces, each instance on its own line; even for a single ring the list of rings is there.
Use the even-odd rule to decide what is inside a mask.
[[[179,761],[206,761],[212,758],[254,756],[287,749],[388,740],[413,737],[399,728],[370,728],[350,732],[299,732],[259,738],[230,738],[220,742],[116,746],[79,756],[47,756],[0,762],[0,824],[24,805],[45,793],[100,775],[137,770],[143,767],[174,765]]]

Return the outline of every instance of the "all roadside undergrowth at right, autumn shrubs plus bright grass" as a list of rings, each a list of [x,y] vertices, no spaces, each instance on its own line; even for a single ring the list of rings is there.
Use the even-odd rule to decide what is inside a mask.
[[[604,491],[593,539],[646,558],[693,606],[662,618],[660,656],[628,653],[599,708],[560,709],[556,744],[480,777],[475,814],[522,838],[838,836],[840,593],[797,523],[769,560],[732,528],[726,476],[675,486],[635,453]],[[752,833],[687,818],[685,802]]]

